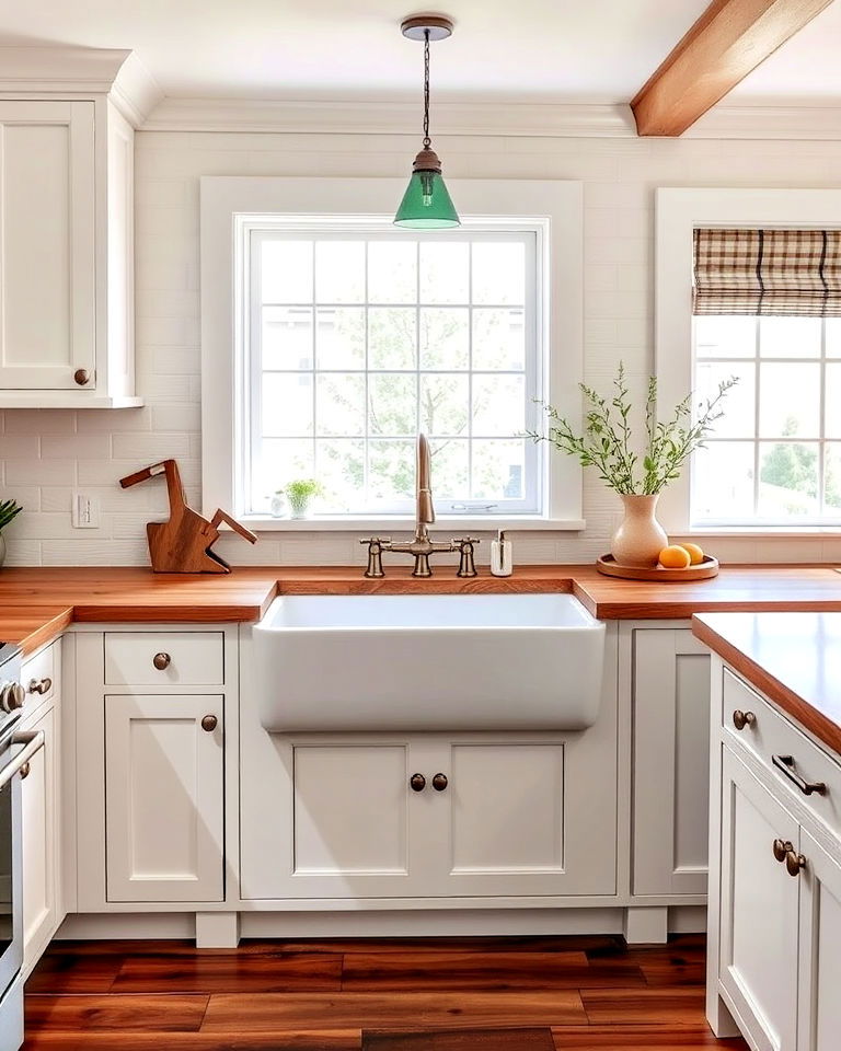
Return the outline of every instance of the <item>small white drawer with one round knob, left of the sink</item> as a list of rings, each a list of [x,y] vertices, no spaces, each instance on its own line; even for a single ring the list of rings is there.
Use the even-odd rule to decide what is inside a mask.
[[[218,686],[224,683],[222,632],[108,632],[110,686]]]

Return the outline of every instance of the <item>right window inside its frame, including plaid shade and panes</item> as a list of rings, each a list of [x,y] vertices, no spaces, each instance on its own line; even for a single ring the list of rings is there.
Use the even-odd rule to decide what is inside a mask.
[[[691,523],[841,524],[841,234],[696,230],[694,269],[693,390],[739,382],[694,457]]]

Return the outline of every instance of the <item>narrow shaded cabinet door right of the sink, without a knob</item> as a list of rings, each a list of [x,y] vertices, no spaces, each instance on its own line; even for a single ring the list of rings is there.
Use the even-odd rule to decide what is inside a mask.
[[[687,630],[634,632],[634,894],[705,894],[710,651]]]

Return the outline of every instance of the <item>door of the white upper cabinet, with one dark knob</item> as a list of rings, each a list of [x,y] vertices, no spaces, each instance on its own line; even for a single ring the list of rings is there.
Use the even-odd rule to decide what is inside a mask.
[[[94,377],[93,102],[0,102],[0,390]]]

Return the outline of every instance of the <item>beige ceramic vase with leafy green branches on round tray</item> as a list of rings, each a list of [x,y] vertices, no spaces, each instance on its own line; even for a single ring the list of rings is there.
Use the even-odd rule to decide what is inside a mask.
[[[529,437],[534,441],[550,441],[561,452],[577,457],[583,467],[596,467],[602,482],[622,498],[625,517],[610,545],[619,565],[657,564],[660,551],[668,543],[655,517],[659,495],[669,482],[680,477],[681,470],[695,449],[703,448],[704,438],[724,415],[722,401],[736,382],[731,378],[719,383],[715,396],[699,403],[694,414],[692,394],[687,394],[668,419],[658,421],[657,377],[649,377],[642,455],[632,447],[632,405],[621,362],[613,380],[612,395],[599,394],[584,383],[578,384],[587,406],[581,434],[573,430],[551,405],[544,406],[549,417],[549,434],[529,431]]]

